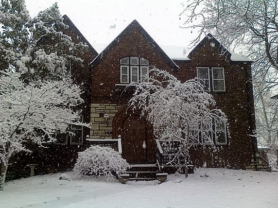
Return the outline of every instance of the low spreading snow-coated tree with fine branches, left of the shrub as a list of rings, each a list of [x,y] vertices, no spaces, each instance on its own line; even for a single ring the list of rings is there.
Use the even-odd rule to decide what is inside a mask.
[[[79,112],[70,107],[83,102],[81,90],[66,79],[25,84],[21,73],[0,71],[0,190],[9,158],[29,151],[28,144],[43,146],[55,141],[56,132],[69,132],[69,124],[78,121]]]

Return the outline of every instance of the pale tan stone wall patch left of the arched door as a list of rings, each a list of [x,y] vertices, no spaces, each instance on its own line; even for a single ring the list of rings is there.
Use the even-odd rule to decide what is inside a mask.
[[[91,130],[89,139],[115,139],[113,118],[123,104],[91,104]]]

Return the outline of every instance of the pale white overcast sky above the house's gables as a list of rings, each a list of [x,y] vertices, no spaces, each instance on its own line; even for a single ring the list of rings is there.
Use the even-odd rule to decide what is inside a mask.
[[[134,19],[158,45],[188,46],[194,37],[180,28],[187,0],[26,0],[26,6],[34,17],[55,1],[91,44],[110,43]]]

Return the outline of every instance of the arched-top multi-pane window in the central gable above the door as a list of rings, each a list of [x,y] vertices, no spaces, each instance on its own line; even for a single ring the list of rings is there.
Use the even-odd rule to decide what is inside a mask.
[[[148,82],[149,61],[139,57],[125,57],[120,60],[121,83]]]

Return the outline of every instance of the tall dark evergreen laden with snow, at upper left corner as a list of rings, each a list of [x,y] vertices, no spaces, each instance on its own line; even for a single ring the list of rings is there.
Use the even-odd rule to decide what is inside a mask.
[[[24,71],[24,77],[63,77],[66,64],[80,63],[86,47],[63,34],[67,26],[57,4],[31,18],[24,0],[1,0],[0,68]]]

